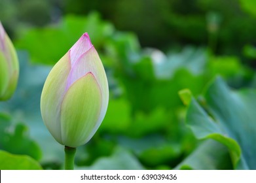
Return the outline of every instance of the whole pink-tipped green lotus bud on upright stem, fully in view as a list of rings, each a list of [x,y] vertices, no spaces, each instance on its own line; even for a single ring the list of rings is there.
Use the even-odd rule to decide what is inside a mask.
[[[105,70],[84,33],[46,78],[41,94],[43,121],[56,141],[75,148],[96,133],[108,101]]]

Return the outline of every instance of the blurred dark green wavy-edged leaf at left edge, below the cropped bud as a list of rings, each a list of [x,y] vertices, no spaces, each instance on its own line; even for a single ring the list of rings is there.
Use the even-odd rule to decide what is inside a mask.
[[[42,156],[39,145],[27,135],[24,124],[11,124],[10,116],[0,113],[0,149],[12,154],[26,154],[34,159]]]

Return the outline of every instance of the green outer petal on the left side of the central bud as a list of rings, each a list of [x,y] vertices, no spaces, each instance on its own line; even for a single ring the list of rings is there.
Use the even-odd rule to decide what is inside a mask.
[[[60,106],[65,95],[67,75],[70,70],[69,52],[54,65],[43,87],[41,95],[41,114],[46,127],[60,144]]]

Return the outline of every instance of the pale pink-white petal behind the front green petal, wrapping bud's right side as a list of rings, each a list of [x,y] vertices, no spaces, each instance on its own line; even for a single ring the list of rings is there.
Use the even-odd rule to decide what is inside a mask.
[[[92,46],[92,48],[90,48],[88,52],[82,55],[81,58],[77,60],[75,65],[73,65],[73,68],[71,69],[69,76],[67,78],[66,90],[69,90],[69,87],[75,81],[79,80],[79,78],[81,78],[89,72],[94,75],[101,90],[102,105],[100,118],[97,123],[97,125],[100,126],[105,116],[105,113],[107,112],[107,105],[109,103],[109,86],[107,83],[107,76],[105,74],[103,64],[94,46]]]

